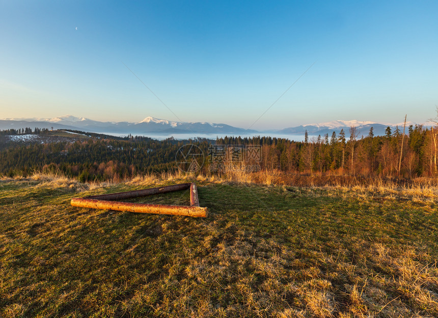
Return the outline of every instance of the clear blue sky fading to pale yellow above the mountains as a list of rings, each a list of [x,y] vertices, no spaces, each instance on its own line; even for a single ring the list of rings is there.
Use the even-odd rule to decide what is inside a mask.
[[[424,122],[437,15],[437,1],[0,0],[0,118],[248,128],[316,62],[253,128]]]

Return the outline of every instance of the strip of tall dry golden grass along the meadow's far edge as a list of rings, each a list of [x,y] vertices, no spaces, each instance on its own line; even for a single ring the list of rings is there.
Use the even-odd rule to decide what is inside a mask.
[[[288,179],[289,177],[289,179]],[[295,178],[295,179],[294,179]],[[66,187],[77,190],[96,190],[99,188],[110,187],[114,184],[128,184],[131,186],[154,186],[157,184],[174,183],[174,182],[192,182],[200,183],[228,183],[228,184],[262,184],[265,186],[293,186],[296,176],[287,176],[279,170],[259,171],[248,173],[241,170],[233,170],[223,174],[212,173],[186,173],[180,170],[172,172],[163,172],[159,174],[136,175],[132,178],[116,178],[110,181],[92,181],[82,183],[76,179],[67,177],[60,171],[47,172],[35,171],[30,177],[15,175],[14,177],[1,176],[1,180],[32,180],[41,185],[51,185],[53,187]],[[394,180],[384,180],[381,178],[358,179],[352,178],[349,182],[332,182],[325,186],[318,186],[321,182],[315,181],[312,176],[300,176],[298,183],[307,183],[307,187],[298,187],[299,192],[305,189],[312,189],[309,195],[320,195],[320,192],[332,196],[359,197],[364,200],[385,199],[385,200],[409,200],[412,202],[426,202],[431,204],[438,203],[438,184],[437,180],[432,178],[417,178],[412,182],[399,183]],[[307,179],[303,182],[303,179]]]

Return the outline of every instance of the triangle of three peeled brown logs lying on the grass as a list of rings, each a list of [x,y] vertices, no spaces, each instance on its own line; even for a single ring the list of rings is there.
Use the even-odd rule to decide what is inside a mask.
[[[154,194],[168,193],[190,188],[190,206],[144,204],[121,202],[117,200],[144,197]],[[181,215],[187,217],[207,217],[208,209],[199,206],[198,189],[195,183],[175,184],[174,186],[158,187],[145,190],[102,194],[84,198],[73,198],[70,204],[77,207],[97,208],[104,210],[129,211],[133,213],[154,213]]]

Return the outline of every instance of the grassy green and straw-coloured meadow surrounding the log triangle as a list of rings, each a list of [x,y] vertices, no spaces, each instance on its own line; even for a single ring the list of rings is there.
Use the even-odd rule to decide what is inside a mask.
[[[208,218],[70,206],[189,181]],[[421,187],[5,177],[0,317],[436,317],[437,203]]]

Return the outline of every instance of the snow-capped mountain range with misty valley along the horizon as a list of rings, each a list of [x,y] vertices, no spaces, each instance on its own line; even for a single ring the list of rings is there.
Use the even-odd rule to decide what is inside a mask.
[[[406,127],[416,125],[418,123],[406,122]],[[424,125],[430,126],[430,123]],[[166,119],[157,119],[154,117],[146,117],[139,122],[101,122],[84,117],[75,117],[65,115],[54,118],[4,118],[0,119],[0,129],[24,128],[31,127],[53,129],[73,129],[83,130],[90,133],[105,133],[105,134],[132,134],[132,135],[169,135],[172,134],[211,134],[211,135],[304,135],[306,130],[309,135],[331,135],[333,131],[339,134],[341,129],[344,129],[345,135],[348,136],[348,129],[357,127],[359,135],[368,135],[371,127],[374,129],[374,135],[384,135],[386,127],[390,126],[394,130],[396,126],[403,129],[403,123],[391,124],[385,122],[358,121],[358,120],[336,120],[323,123],[312,123],[289,127],[278,130],[257,131],[247,130],[243,128],[233,127],[227,124],[217,124],[210,122],[178,122]]]

